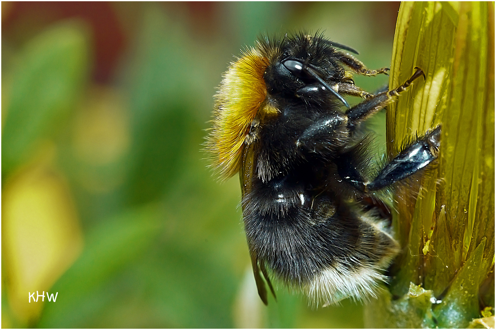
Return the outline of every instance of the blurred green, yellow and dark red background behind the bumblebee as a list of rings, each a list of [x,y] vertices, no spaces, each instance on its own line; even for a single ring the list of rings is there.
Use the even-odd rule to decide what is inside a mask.
[[[1,5],[3,328],[363,327],[352,301],[311,310],[279,287],[262,305],[239,179],[212,177],[201,144],[258,34],[321,29],[380,68],[398,2]],[[369,124],[383,150],[384,114]]]

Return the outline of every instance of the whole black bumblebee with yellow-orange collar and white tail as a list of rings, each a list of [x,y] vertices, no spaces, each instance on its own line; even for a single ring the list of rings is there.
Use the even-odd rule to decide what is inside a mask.
[[[373,171],[361,123],[424,72],[415,68],[398,88],[369,94],[355,85],[353,72],[389,69],[369,70],[351,53],[358,54],[320,33],[261,37],[230,64],[215,95],[206,150],[222,179],[239,172],[253,274],[265,304],[265,283],[275,297],[270,278],[314,304],[374,295],[400,247],[378,203],[364,201],[437,157],[440,127]],[[343,95],[365,100],[350,107]]]

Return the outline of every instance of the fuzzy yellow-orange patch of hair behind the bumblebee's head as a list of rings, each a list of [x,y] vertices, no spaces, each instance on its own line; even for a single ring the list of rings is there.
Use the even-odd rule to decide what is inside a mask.
[[[253,119],[264,108],[267,89],[263,80],[269,59],[251,48],[232,62],[215,95],[213,128],[206,150],[222,179],[239,171],[245,140]]]

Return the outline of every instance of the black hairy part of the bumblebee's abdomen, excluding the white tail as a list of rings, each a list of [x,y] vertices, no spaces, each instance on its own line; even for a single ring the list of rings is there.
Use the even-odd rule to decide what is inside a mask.
[[[373,265],[390,247],[389,237],[359,218],[355,204],[321,191],[323,172],[309,161],[282,178],[256,179],[243,200],[250,249],[288,283],[308,283],[329,267]]]

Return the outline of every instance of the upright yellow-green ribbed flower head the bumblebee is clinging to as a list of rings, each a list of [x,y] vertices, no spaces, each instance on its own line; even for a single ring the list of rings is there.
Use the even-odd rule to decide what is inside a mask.
[[[466,328],[486,307],[494,315],[494,39],[494,2],[401,4],[389,88],[414,67],[426,80],[388,108],[387,152],[437,125],[441,147],[396,190],[403,250],[367,327]]]

